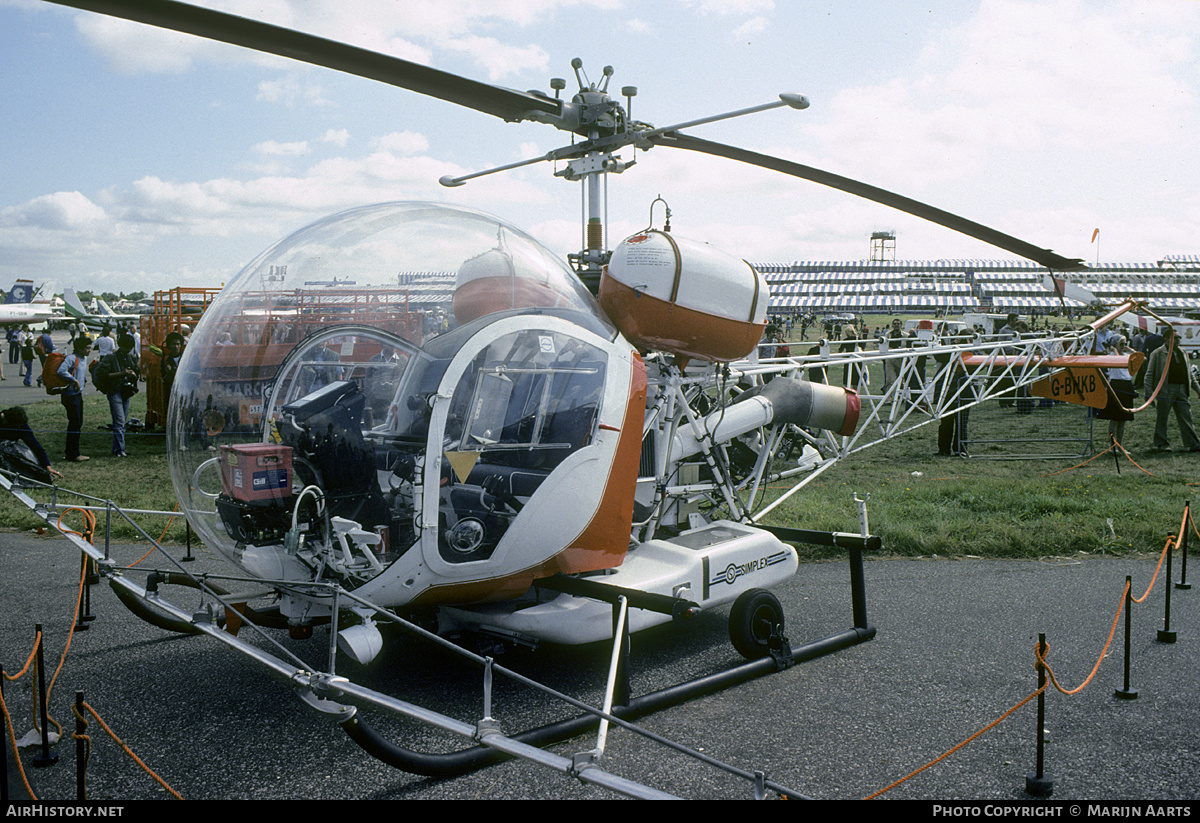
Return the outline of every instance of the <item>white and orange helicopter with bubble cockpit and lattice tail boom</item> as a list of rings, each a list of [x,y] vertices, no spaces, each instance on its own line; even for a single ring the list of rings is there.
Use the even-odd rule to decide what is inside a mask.
[[[1085,268],[882,188],[683,131],[800,110],[803,95],[656,127],[630,116],[636,89],[611,94],[613,70],[592,82],[580,60],[566,97],[563,79],[551,80],[553,94],[515,91],[174,0],[60,5],[569,136],[539,157],[440,180],[458,187],[553,163],[581,185],[584,204],[586,245],[566,262],[470,209],[361,206],[263,252],[196,326],[170,395],[172,480],[193,529],[268,584],[296,637],[344,608],[338,590],[422,614],[445,633],[611,637],[607,606],[562,593],[566,577],[667,600],[637,609],[634,630],[733,603],[734,645],[763,655],[782,625],[768,590],[798,566],[794,548],[756,522],[764,512],[752,501],[769,480],[811,479],[869,445],[868,429],[892,437],[928,423],[1082,346],[1039,341],[1037,358],[1012,356],[1009,346],[1001,359],[995,344],[961,359],[950,347],[928,378],[916,364],[934,349],[918,358],[884,344],[839,360],[826,343],[823,370],[874,359],[908,374],[890,394],[862,395],[806,379],[803,359],[758,358],[762,275],[673,234],[668,209],[662,229],[607,247],[607,179],[636,162],[619,152],[679,149],[882,203],[1050,270]],[[955,368],[982,386],[970,400],[964,382],[947,379]],[[382,644],[376,618],[361,605],[349,611],[356,621],[340,644],[370,662]]]

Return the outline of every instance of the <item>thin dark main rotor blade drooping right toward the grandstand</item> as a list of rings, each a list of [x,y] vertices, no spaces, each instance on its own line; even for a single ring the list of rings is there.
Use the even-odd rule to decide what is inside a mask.
[[[875,200],[876,203],[882,203],[883,205],[892,206],[893,209],[899,209],[900,211],[922,217],[923,220],[937,223],[938,226],[944,226],[948,229],[954,229],[955,232],[960,232],[968,238],[983,240],[984,242],[1003,248],[1007,252],[1020,254],[1021,257],[1028,258],[1034,263],[1040,263],[1046,269],[1051,269],[1054,271],[1082,271],[1087,269],[1080,259],[1068,259],[1060,254],[1055,254],[1049,248],[1038,248],[1032,244],[1018,240],[1016,238],[1009,236],[1003,232],[997,232],[996,229],[974,223],[965,217],[952,215],[948,211],[942,211],[941,209],[926,205],[919,200],[913,200],[904,197],[902,194],[895,194],[883,188],[876,188],[875,186],[859,182],[858,180],[842,178],[840,175],[832,174],[830,172],[822,172],[821,169],[812,168],[811,166],[802,166],[800,163],[793,163],[779,157],[760,155],[755,151],[738,149],[736,146],[725,145],[724,143],[701,140],[688,134],[680,134],[679,132],[668,132],[666,134],[655,136],[650,139],[655,145],[686,149],[689,151],[698,151],[701,154],[725,157],[727,160],[737,160],[743,163],[750,163],[751,166],[761,166],[762,168],[772,169],[773,172],[790,174],[793,178],[811,180],[812,182],[818,182],[822,186],[829,186],[850,194],[857,194],[858,197],[864,197],[868,200]]]

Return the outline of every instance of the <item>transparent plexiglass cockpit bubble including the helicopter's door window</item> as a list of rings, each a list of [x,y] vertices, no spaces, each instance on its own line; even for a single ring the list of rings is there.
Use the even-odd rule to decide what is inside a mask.
[[[448,364],[491,318],[530,311],[557,319],[479,343],[449,390],[458,406],[439,417],[454,453],[509,477],[474,492],[478,511],[448,494],[448,564],[486,558],[518,506],[514,483],[590,440],[614,330],[553,253],[478,211],[380,204],[276,244],[221,290],[174,380],[167,446],[193,528],[263,577],[370,579],[421,528],[396,512],[421,505],[431,396]],[[514,378],[526,374],[518,359],[529,377]],[[318,535],[298,521],[332,548],[306,554]]]

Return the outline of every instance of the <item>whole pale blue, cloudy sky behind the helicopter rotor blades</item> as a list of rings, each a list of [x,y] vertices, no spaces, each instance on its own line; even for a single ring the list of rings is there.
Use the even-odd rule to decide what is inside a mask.
[[[637,86],[655,126],[863,180],[1093,263],[1200,254],[1200,4],[1188,0],[204,0],[512,89]],[[329,214],[439,200],[565,256],[569,136],[372,80],[56,6],[0,0],[0,283],[220,286]],[[632,156],[625,149],[623,158]],[[607,184],[608,241],[673,233],[751,263],[1013,259],[881,205],[655,148]],[[661,210],[654,215],[661,226]],[[1100,229],[1093,241],[1094,229]]]

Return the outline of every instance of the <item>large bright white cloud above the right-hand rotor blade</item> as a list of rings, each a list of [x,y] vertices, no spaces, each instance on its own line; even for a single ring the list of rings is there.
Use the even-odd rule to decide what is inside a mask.
[[[829,101],[802,127],[806,162],[1020,236],[1080,235],[1070,253],[1086,256],[1076,223],[1091,232],[1108,212],[1160,211],[1144,169],[1200,125],[1195,46],[1182,34],[1198,22],[1192,4],[985,1],[932,34],[919,71]],[[1163,182],[1159,198],[1174,185]],[[1134,253],[1159,252],[1120,259]]]

